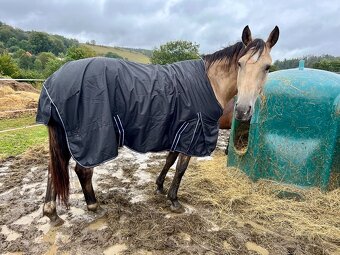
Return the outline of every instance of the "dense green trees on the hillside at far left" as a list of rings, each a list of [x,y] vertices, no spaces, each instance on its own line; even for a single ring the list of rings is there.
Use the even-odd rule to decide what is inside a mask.
[[[70,60],[94,56],[94,50],[76,39],[23,31],[0,22],[0,76],[45,79]],[[121,58],[112,52],[105,56]]]

